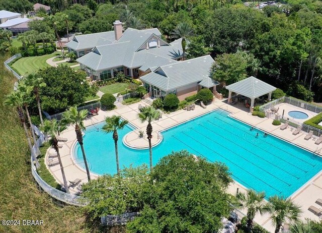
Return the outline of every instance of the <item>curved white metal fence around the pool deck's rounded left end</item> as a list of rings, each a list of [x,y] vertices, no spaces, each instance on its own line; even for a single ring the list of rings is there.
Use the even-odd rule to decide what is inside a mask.
[[[33,125],[33,128],[38,130],[38,128],[36,126],[34,126],[34,125]],[[44,141],[45,141],[45,136],[40,131],[38,133],[40,133],[40,137],[37,139],[37,145],[38,146],[41,146],[44,143]],[[35,145],[33,146],[32,149],[33,149],[34,152],[36,152]],[[31,156],[31,161],[33,161],[32,156]],[[50,185],[48,185],[39,176],[39,174],[37,172],[37,168],[35,167],[35,165],[33,164],[33,162],[31,163],[31,173],[32,173],[32,176],[34,177],[37,185],[44,192],[46,192],[48,195],[50,195],[54,199],[59,200],[59,201],[64,202],[64,203],[67,203],[67,204],[70,204],[70,205],[76,205],[76,206],[85,206],[85,205],[88,204],[88,200],[86,198],[84,198],[84,197],[70,195],[70,194],[61,192],[61,191],[59,191],[59,190],[51,187]]]

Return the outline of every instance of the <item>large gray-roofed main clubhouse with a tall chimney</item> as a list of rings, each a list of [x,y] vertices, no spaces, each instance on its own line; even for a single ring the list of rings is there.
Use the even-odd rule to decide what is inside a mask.
[[[157,28],[123,32],[120,21],[114,22],[114,31],[74,36],[66,46],[94,80],[111,79],[118,72],[138,78],[182,58],[181,43],[163,40]]]

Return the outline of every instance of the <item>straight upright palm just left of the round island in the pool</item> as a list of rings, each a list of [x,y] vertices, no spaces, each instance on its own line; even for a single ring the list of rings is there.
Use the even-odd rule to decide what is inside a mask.
[[[119,135],[117,134],[117,131],[122,130],[125,127],[125,125],[128,123],[128,121],[126,120],[121,121],[121,116],[113,115],[110,118],[106,118],[105,122],[106,123],[102,128],[103,131],[105,133],[113,132],[113,140],[115,144],[116,168],[117,168],[117,174],[120,175],[119,155],[118,155],[118,149],[117,149],[117,140],[119,139]]]

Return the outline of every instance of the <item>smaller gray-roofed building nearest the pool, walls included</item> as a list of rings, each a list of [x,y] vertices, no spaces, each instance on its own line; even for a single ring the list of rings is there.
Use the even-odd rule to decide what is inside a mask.
[[[202,88],[216,90],[219,82],[210,78],[214,60],[210,55],[162,65],[140,77],[152,98],[174,93],[180,100],[196,94]]]

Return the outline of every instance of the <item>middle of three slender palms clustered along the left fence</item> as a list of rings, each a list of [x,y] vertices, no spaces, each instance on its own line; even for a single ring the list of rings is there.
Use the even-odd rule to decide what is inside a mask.
[[[29,122],[31,135],[32,135],[32,138],[34,140],[34,146],[35,146],[35,148],[37,150],[37,154],[39,155],[41,153],[40,153],[40,150],[38,148],[36,135],[35,135],[35,132],[34,132],[34,129],[33,129],[33,126],[32,126],[32,122],[31,122],[30,114],[29,114],[29,110],[28,110],[28,105],[32,101],[32,97],[30,96],[32,88],[30,86],[27,86],[24,82],[20,82],[19,85],[18,85],[18,91],[21,92],[21,94],[22,94],[23,105],[25,107],[25,111],[26,111],[26,114],[27,114],[27,120]]]

